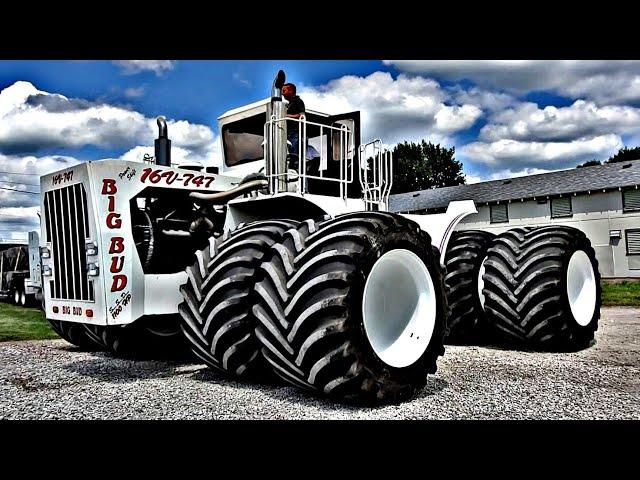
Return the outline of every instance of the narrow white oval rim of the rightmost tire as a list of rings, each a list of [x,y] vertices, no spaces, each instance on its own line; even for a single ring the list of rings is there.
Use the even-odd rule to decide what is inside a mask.
[[[596,275],[582,250],[571,255],[567,268],[567,297],[574,320],[586,327],[596,310]]]

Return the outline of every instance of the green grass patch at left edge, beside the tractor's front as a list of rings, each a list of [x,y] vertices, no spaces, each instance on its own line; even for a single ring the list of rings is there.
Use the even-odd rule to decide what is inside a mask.
[[[0,302],[0,342],[59,338],[39,308],[22,308]]]

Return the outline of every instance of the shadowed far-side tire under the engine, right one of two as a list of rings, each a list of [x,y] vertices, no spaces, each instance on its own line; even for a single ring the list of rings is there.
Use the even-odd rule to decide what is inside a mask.
[[[96,333],[105,349],[118,356],[177,359],[188,350],[177,315],[143,317],[130,325],[100,326]]]

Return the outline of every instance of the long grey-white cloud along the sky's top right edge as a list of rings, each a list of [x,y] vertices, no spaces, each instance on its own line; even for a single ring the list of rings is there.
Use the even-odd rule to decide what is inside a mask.
[[[640,100],[635,60],[387,60],[400,71],[523,94],[549,90],[599,103]]]

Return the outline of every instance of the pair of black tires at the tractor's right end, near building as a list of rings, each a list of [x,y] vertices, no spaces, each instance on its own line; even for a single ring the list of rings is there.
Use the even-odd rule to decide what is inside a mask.
[[[540,351],[587,347],[598,328],[600,275],[572,227],[454,234],[446,255],[449,342],[499,340]]]

